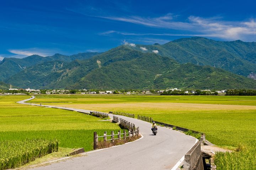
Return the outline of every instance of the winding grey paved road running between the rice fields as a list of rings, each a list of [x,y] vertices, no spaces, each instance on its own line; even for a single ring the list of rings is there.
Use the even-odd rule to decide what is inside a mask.
[[[28,100],[33,98],[34,97]],[[23,100],[18,103],[30,104],[24,103],[28,100]],[[31,105],[40,106],[38,104]],[[90,113],[89,110],[83,109],[46,105],[43,105],[43,107]],[[111,118],[113,117],[112,114],[109,114],[109,116]],[[119,115],[118,117],[134,123],[135,126],[139,126],[140,134],[143,135],[143,138],[125,145],[84,153],[82,157],[66,159],[65,161],[33,168],[33,170],[176,169],[174,166],[197,141],[196,138],[164,127],[159,127],[158,134],[154,136],[151,135],[150,123]]]

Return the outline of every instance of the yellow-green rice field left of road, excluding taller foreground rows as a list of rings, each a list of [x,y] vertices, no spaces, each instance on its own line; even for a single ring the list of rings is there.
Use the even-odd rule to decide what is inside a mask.
[[[90,115],[18,104],[30,96],[0,96],[0,142],[44,138],[57,139],[59,147],[93,149],[93,133],[116,133],[119,126]]]

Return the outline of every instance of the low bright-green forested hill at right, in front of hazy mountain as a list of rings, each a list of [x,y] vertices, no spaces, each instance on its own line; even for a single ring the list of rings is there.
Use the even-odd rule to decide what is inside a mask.
[[[156,88],[256,89],[256,81],[220,68],[182,64],[155,80]]]

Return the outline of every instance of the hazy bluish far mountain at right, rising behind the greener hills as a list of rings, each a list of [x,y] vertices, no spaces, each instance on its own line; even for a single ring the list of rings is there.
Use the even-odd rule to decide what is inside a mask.
[[[142,51],[158,50],[179,63],[191,62],[200,66],[213,66],[247,77],[256,72],[256,42],[214,41],[203,37],[183,38],[164,45],[136,45],[130,47]],[[144,52],[148,52],[144,51]]]

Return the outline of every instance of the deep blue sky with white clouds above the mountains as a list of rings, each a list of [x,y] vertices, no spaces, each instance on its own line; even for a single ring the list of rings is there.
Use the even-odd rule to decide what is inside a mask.
[[[0,60],[191,36],[256,41],[256,1],[223,1],[1,1]]]

